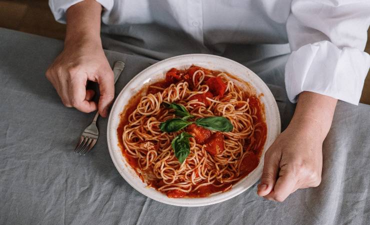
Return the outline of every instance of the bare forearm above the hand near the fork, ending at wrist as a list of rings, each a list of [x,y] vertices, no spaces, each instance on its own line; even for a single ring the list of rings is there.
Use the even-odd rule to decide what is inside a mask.
[[[66,33],[64,44],[83,41],[100,41],[101,5],[95,0],[84,0],[70,6],[66,12]]]

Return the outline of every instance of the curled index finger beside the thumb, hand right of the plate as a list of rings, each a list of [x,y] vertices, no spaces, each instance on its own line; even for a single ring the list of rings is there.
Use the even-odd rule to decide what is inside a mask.
[[[293,169],[282,167],[279,174],[280,176],[276,180],[273,191],[264,196],[266,199],[283,201],[297,189],[297,179]]]

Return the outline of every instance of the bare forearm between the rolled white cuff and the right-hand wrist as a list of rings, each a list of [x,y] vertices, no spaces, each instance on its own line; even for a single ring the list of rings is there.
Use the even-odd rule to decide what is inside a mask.
[[[313,133],[323,140],[330,129],[336,102],[337,99],[329,96],[301,92],[289,126],[314,130]]]

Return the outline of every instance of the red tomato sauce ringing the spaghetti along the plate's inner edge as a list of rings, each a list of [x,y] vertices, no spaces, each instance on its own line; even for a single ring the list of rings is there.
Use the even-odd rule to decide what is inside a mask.
[[[191,73],[191,72],[193,73],[197,69],[202,69],[203,71],[205,71],[208,74],[209,73],[210,74],[218,74],[219,73],[219,71],[208,70],[208,69],[197,67],[197,66],[190,67],[188,69],[188,73]],[[186,73],[186,70],[177,70],[177,71],[172,70],[171,72],[176,74],[175,82],[178,78],[177,74],[188,75],[188,73]],[[249,83],[247,83],[243,80],[240,80],[237,77],[232,76],[228,73],[227,73],[227,75],[229,75],[231,78],[236,79],[239,82],[242,82],[245,85],[250,87]],[[185,78],[190,79],[189,77],[185,77]],[[197,80],[197,77],[195,77],[195,80]],[[207,80],[207,77],[205,77],[204,80]],[[128,164],[136,171],[137,175],[143,181],[144,181],[144,178],[142,177],[142,175],[139,172],[137,172],[137,169],[138,169],[137,159],[130,156],[123,147],[124,146],[123,145],[123,140],[122,140],[123,128],[126,124],[128,124],[128,116],[136,109],[136,106],[139,103],[141,97],[144,96],[144,95],[147,95],[149,93],[154,94],[154,93],[160,91],[159,89],[153,88],[152,86],[166,88],[171,84],[171,82],[172,81],[169,81],[169,79],[166,77],[165,79],[160,80],[160,81],[155,82],[155,83],[152,83],[149,86],[144,86],[143,88],[141,88],[137,92],[137,94],[135,94],[133,97],[131,97],[131,99],[128,101],[126,107],[123,109],[123,111],[120,114],[120,121],[119,121],[119,125],[118,125],[118,128],[117,128],[117,136],[118,136],[118,140],[119,140],[118,145],[121,149],[121,152],[122,152],[123,156],[126,158],[126,161],[128,162]],[[192,83],[192,74],[191,74],[191,83]],[[260,94],[260,96],[263,96],[263,94]],[[259,98],[255,95],[254,96],[245,96],[245,97],[249,98],[249,104],[251,106],[256,107],[258,109],[257,114],[256,114],[257,119],[255,119],[254,122],[255,122],[255,124],[259,123],[259,129],[261,130],[261,132],[255,132],[254,136],[252,138],[253,139],[252,142],[257,141],[257,142],[260,143],[259,145],[250,142],[249,139],[247,139],[247,141],[245,141],[245,143],[244,143],[244,149],[248,151],[248,155],[245,156],[242,159],[242,162],[241,162],[241,165],[240,165],[240,172],[241,172],[241,175],[239,176],[240,179],[242,179],[243,177],[248,175],[251,171],[253,171],[257,167],[257,165],[259,163],[259,158],[261,157],[261,154],[262,154],[262,151],[263,151],[263,146],[264,146],[264,143],[265,143],[265,140],[266,140],[266,136],[267,136],[267,126],[266,126],[266,123],[265,123],[263,104],[260,102]],[[253,145],[253,148],[250,147],[251,144]],[[168,197],[206,197],[211,193],[215,193],[215,192],[219,192],[219,191],[227,191],[227,190],[231,189],[231,188],[229,188],[229,186],[231,184],[234,184],[238,181],[239,180],[224,183],[221,186],[214,186],[212,184],[204,185],[204,186],[199,187],[195,191],[189,192],[187,194],[184,194],[184,192],[179,191],[179,190],[170,190],[170,191],[164,191],[164,192],[166,192]],[[164,183],[161,179],[157,179],[157,180],[153,180],[153,181],[147,181],[147,184],[149,186],[154,187],[155,189],[158,189],[160,186],[164,185]],[[220,185],[221,183],[219,183],[218,181],[215,181],[214,184],[215,185]]]

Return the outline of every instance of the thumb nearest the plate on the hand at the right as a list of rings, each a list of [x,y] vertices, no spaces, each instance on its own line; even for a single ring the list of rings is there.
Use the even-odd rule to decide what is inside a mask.
[[[261,181],[257,190],[259,196],[265,196],[273,190],[279,169],[279,159],[280,157],[271,149],[265,153]]]

